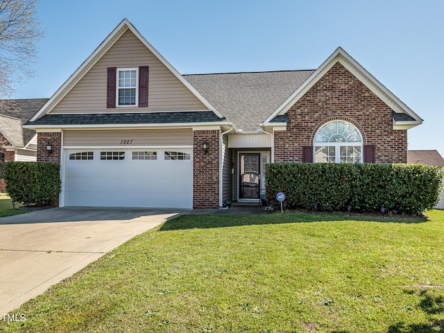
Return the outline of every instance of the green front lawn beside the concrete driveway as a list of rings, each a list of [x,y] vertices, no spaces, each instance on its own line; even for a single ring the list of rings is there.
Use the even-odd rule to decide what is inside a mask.
[[[0,330],[444,332],[444,212],[429,214],[181,216],[12,311],[26,321]]]

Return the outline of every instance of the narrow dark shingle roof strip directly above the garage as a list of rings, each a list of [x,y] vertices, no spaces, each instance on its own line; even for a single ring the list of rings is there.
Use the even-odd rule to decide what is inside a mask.
[[[46,114],[26,125],[105,125],[117,123],[206,123],[221,121],[212,111],[113,114]]]

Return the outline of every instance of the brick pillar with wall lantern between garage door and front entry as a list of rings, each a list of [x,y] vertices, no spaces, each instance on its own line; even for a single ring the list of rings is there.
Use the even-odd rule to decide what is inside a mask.
[[[193,209],[205,208],[219,208],[219,130],[193,131]]]

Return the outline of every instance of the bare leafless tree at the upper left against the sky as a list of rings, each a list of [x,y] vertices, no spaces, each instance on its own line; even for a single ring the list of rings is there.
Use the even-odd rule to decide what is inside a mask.
[[[43,37],[36,6],[37,0],[0,0],[0,99],[10,98],[24,77],[34,75],[31,65]]]

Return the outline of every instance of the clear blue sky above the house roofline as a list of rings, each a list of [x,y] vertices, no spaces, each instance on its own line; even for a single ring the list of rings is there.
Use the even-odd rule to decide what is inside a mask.
[[[127,18],[181,74],[316,69],[341,46],[424,123],[409,149],[444,157],[444,1],[40,0],[35,78],[50,97]]]

